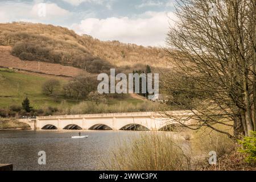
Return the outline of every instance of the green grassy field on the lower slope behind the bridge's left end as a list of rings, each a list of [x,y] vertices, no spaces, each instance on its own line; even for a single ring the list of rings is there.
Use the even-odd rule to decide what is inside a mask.
[[[0,68],[0,108],[20,105],[26,95],[35,109],[42,108],[43,106],[58,106],[61,104],[62,100],[67,101],[64,107],[76,105],[77,102],[75,100],[60,97],[59,100],[56,101],[55,98],[42,94],[42,84],[51,78],[59,80],[61,84],[67,83],[69,79],[65,77],[40,75],[37,73],[16,72],[10,69]],[[110,99],[108,100],[108,104],[116,104],[120,101],[126,101],[134,105],[143,102],[135,98],[127,97],[125,100]]]

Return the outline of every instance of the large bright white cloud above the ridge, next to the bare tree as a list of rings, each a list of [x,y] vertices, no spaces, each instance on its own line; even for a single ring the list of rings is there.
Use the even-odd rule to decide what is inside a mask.
[[[88,34],[100,40],[119,40],[143,46],[164,46],[173,13],[146,12],[135,18],[111,17],[106,19],[87,18],[72,29],[79,34]],[[172,22],[170,22],[172,23]]]

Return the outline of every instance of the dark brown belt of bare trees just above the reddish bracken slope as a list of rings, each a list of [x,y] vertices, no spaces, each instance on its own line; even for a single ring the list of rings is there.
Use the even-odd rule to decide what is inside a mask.
[[[41,39],[46,40],[41,41]],[[102,73],[114,67],[108,61],[90,55],[85,48],[74,48],[74,45],[65,42],[56,45],[51,39],[41,36],[38,36],[38,40],[17,42],[11,53],[21,60],[69,65],[86,69],[90,73]]]

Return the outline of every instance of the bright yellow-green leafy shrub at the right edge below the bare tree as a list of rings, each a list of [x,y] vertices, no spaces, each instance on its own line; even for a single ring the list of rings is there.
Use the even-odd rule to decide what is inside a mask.
[[[256,131],[251,131],[251,137],[244,137],[238,140],[242,145],[240,152],[247,154],[245,161],[250,164],[256,164]]]

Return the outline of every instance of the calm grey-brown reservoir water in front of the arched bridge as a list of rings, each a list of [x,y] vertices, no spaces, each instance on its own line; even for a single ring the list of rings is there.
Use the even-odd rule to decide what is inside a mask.
[[[89,135],[71,139],[71,135]],[[0,164],[14,170],[98,170],[117,143],[138,135],[135,131],[0,131]],[[46,165],[38,152],[46,152]]]

